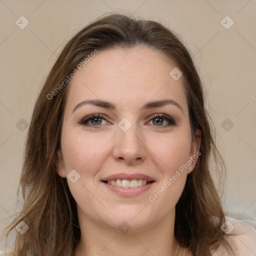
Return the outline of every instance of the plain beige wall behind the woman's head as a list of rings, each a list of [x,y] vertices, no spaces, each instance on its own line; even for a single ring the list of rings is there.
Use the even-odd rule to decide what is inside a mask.
[[[109,11],[162,22],[190,49],[226,161],[224,208],[255,220],[256,1],[0,0],[0,233],[3,219],[17,208],[27,128],[16,123],[22,124],[21,118],[29,123],[38,90],[67,39]],[[21,15],[29,21],[24,29],[15,24]],[[220,22],[227,15],[234,21],[229,29]],[[228,131],[221,126],[226,118],[233,123]]]

